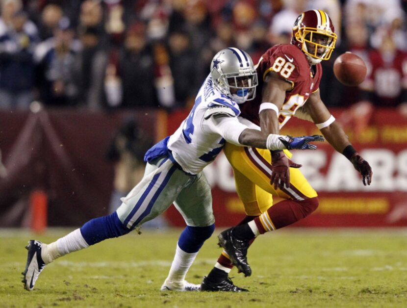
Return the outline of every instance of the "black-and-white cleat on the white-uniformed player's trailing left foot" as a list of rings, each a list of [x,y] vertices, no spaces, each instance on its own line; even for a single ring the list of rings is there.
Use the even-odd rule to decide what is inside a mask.
[[[27,291],[34,289],[35,282],[45,267],[45,262],[41,257],[41,250],[45,245],[46,244],[32,239],[28,242],[28,245],[25,246],[25,249],[28,250],[28,256],[25,271],[21,273],[23,274],[23,280],[21,282],[24,283],[24,288]]]

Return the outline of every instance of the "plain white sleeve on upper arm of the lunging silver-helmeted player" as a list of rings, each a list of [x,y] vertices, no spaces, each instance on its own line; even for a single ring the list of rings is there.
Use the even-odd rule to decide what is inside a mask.
[[[237,146],[241,146],[239,143],[239,136],[243,130],[248,128],[241,124],[236,117],[229,116],[212,116],[207,120],[209,130],[220,134],[227,142]]]

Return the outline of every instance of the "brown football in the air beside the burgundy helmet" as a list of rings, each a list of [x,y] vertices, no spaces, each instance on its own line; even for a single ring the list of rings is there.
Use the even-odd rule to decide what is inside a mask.
[[[355,53],[347,51],[338,56],[333,63],[336,79],[347,86],[356,86],[366,77],[366,64]]]

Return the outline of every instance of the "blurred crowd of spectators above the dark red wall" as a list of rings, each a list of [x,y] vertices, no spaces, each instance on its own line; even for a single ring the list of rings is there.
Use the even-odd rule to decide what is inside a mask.
[[[226,47],[262,53],[289,43],[297,16],[330,15],[337,47],[323,61],[330,107],[407,106],[407,0],[1,0],[0,109],[189,107]],[[345,87],[332,73],[345,51],[368,77]],[[404,109],[403,109],[404,108]],[[407,114],[407,112],[406,112]]]

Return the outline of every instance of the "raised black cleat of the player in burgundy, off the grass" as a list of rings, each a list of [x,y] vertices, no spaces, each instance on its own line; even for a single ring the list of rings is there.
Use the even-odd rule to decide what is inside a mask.
[[[249,248],[249,240],[238,239],[232,234],[233,228],[227,229],[218,235],[218,245],[225,249],[230,260],[237,269],[245,274],[245,277],[252,275],[252,269],[247,262],[247,249]]]

